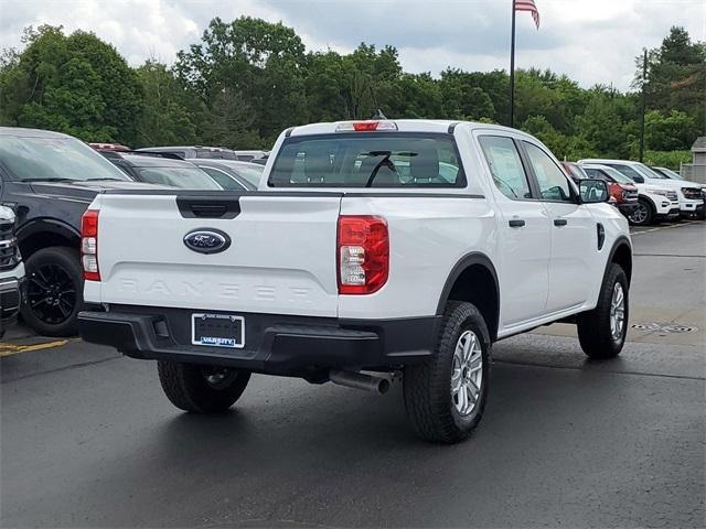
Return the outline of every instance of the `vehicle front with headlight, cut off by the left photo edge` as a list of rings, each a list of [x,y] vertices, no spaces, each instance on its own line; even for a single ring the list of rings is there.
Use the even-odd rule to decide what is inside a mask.
[[[24,264],[14,236],[14,212],[0,206],[0,338],[14,323],[24,287]]]

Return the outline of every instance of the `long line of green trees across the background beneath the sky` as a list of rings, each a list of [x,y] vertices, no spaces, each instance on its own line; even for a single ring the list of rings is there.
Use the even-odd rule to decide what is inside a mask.
[[[509,122],[504,71],[405,73],[393,46],[307,52],[291,28],[249,17],[213,19],[172,67],[147,61],[131,69],[82,31],[29,29],[23,43],[0,54],[0,122],[92,141],[270,148],[286,128],[366,119],[377,108],[393,119]],[[534,68],[515,80],[515,123],[558,158],[638,156],[638,91],[584,89]],[[640,63],[634,86],[642,83]],[[706,47],[673,28],[649,52],[644,86],[648,160],[677,168],[706,133]]]

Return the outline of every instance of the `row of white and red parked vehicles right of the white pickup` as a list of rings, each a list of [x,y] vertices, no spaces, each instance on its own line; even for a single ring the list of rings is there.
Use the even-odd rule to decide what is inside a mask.
[[[668,169],[605,159],[563,162],[563,165],[576,181],[607,182],[611,203],[635,226],[678,217],[704,218],[706,185],[683,180]]]

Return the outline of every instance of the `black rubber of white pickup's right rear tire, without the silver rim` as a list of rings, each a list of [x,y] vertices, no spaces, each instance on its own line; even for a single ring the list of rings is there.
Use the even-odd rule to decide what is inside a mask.
[[[481,380],[470,413],[461,414],[452,396],[451,382],[454,350],[461,336],[471,331],[480,342]],[[450,301],[436,354],[426,363],[410,365],[404,373],[407,417],[421,439],[438,443],[456,443],[468,438],[480,422],[488,400],[491,341],[483,316],[471,303]]]

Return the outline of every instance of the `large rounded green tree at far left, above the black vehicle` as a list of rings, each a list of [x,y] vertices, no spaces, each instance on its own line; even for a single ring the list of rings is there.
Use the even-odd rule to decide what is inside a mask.
[[[93,33],[61,26],[25,33],[26,47],[0,71],[3,123],[132,143],[142,110],[137,75]]]

